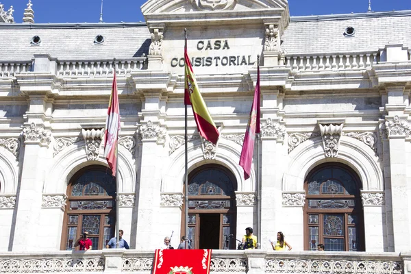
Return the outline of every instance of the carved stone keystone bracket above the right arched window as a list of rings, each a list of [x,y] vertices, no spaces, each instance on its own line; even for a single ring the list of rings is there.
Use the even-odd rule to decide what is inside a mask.
[[[338,156],[338,147],[340,145],[340,137],[343,133],[344,124],[340,125],[321,125],[320,132],[323,137],[323,146],[325,157],[334,158]]]

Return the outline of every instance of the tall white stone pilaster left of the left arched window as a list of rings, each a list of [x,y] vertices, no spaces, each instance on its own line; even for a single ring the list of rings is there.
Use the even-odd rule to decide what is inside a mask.
[[[17,195],[12,251],[36,251],[39,245],[37,232],[51,132],[33,122],[24,127],[23,138],[25,141],[24,161]]]

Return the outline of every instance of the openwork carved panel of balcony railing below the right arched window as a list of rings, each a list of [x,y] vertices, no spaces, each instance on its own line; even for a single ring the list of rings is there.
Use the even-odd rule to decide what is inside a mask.
[[[373,260],[315,260],[274,259],[265,260],[266,273],[364,273],[402,274],[402,262]]]

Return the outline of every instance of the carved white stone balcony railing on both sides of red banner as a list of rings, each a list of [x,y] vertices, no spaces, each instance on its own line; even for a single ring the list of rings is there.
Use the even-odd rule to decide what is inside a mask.
[[[153,268],[153,251],[103,249],[0,253],[0,273],[140,273]],[[411,253],[214,250],[211,273],[409,274]]]

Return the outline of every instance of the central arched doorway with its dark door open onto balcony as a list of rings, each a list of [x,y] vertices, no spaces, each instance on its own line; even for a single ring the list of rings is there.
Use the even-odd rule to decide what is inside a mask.
[[[190,173],[188,238],[193,248],[236,248],[236,189],[236,178],[223,166],[206,164]],[[184,212],[182,218],[184,235]]]

